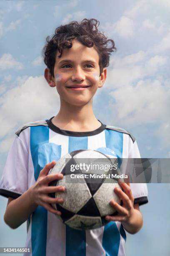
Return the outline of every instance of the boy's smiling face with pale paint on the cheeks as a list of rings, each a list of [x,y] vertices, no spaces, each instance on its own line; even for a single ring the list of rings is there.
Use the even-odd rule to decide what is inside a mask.
[[[56,86],[61,102],[71,105],[85,105],[92,102],[97,88],[102,87],[106,79],[106,69],[103,69],[99,77],[97,51],[94,47],[89,48],[73,40],[72,47],[63,49],[61,58],[58,57],[59,55],[60,53],[57,52],[54,77],[50,75],[49,69],[45,69],[45,79],[48,84],[51,87]]]

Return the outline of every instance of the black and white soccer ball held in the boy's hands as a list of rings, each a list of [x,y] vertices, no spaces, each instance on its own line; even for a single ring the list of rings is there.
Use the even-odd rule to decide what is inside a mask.
[[[84,159],[86,164],[90,164],[89,169],[75,169],[72,166],[79,165]],[[49,186],[64,186],[65,192],[55,192],[49,194],[51,197],[62,197],[62,204],[52,204],[56,210],[60,210],[61,215],[56,215],[63,223],[78,230],[88,230],[100,228],[108,223],[105,220],[106,215],[116,215],[117,211],[109,202],[116,201],[122,204],[120,197],[115,192],[115,187],[120,187],[118,179],[112,178],[112,174],[120,174],[117,169],[110,168],[107,172],[105,169],[94,169],[101,163],[117,164],[117,158],[114,163],[111,159],[95,150],[77,150],[63,156],[49,174],[63,174],[63,179],[55,180],[49,183]],[[111,165],[110,165],[111,166]],[[88,176],[87,176],[88,175]],[[98,176],[97,176],[98,175]],[[73,178],[72,178],[73,177]],[[96,178],[97,177],[97,178]]]

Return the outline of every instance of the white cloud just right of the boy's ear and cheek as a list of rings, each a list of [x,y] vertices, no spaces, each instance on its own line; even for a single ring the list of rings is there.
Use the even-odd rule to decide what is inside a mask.
[[[144,51],[139,51],[123,58],[119,56],[113,58],[111,61],[112,69],[107,74],[107,87],[118,88],[150,77],[167,61],[165,56],[155,55],[148,60],[146,57],[147,54]]]

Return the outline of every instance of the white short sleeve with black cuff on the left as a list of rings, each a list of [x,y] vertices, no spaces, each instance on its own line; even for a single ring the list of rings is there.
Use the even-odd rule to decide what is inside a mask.
[[[7,155],[0,180],[0,195],[4,197],[17,198],[28,189],[28,147],[22,133],[15,136]]]

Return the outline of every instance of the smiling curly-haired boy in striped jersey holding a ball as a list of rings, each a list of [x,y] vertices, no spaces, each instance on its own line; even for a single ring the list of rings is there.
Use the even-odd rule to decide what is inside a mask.
[[[97,31],[95,19],[60,26],[49,39],[44,47],[44,75],[60,95],[60,111],[15,133],[0,183],[0,194],[8,197],[5,223],[17,228],[27,220],[25,246],[32,248],[32,256],[123,256],[125,230],[136,233],[143,224],[139,205],[148,202],[146,184],[121,183],[123,191],[115,192],[122,206],[110,202],[118,215],[106,216],[107,225],[87,231],[69,228],[56,218],[61,212],[50,204],[63,199],[48,196],[58,190],[64,193],[64,187],[48,187],[62,174],[48,172],[68,152],[102,147],[120,158],[140,157],[130,133],[102,124],[92,110],[92,98],[106,79],[114,41]],[[108,41],[112,46],[106,47]]]

